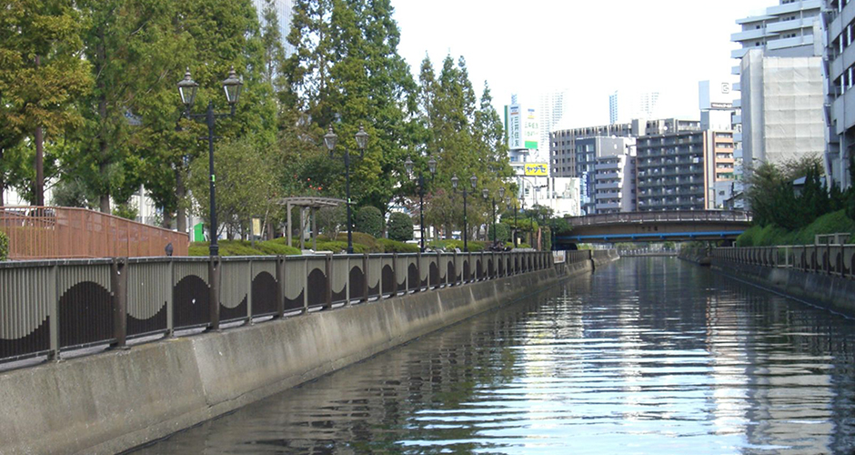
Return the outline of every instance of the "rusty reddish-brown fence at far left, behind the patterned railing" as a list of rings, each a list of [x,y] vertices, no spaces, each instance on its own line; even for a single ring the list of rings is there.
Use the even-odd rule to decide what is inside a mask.
[[[74,207],[0,207],[9,258],[140,258],[186,256],[190,238],[169,229]]]

